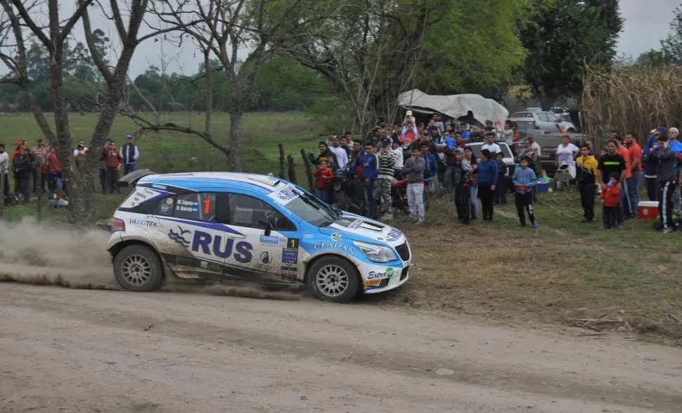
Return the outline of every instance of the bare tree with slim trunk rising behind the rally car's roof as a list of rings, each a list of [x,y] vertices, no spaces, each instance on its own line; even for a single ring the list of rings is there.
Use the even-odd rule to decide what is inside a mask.
[[[327,1],[327,0],[325,0]],[[178,27],[179,39],[191,37],[204,55],[205,75],[210,83],[210,57],[220,62],[227,76],[230,97],[229,163],[232,170],[241,168],[243,115],[252,98],[256,77],[282,44],[292,41],[306,9],[303,0],[171,0],[155,8],[163,23]],[[187,25],[200,20],[200,25]],[[240,54],[245,55],[240,59]],[[210,106],[207,95],[205,133],[210,134]]]

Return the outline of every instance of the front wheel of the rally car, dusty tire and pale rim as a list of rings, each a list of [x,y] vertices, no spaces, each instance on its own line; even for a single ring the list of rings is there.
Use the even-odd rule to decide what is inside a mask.
[[[318,300],[346,303],[360,290],[357,269],[347,260],[327,255],[308,269],[308,290]]]

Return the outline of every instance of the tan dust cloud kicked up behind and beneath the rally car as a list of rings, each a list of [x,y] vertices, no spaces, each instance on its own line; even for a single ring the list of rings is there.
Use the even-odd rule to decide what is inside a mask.
[[[0,282],[117,290],[107,252],[110,233],[96,228],[0,220]],[[291,291],[271,291],[258,285],[165,284],[163,291],[274,300],[300,300]]]

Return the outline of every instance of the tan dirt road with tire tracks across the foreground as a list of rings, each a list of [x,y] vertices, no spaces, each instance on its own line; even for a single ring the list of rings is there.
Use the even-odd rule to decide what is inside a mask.
[[[0,284],[1,412],[680,412],[681,355],[375,303]]]

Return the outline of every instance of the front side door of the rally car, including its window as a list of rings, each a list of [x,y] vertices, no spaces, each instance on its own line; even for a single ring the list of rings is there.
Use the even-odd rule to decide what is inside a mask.
[[[292,283],[299,279],[302,262],[297,224],[269,201],[244,193],[227,193],[232,229],[245,235],[236,254],[226,258],[226,277]],[[221,218],[222,219],[222,218]]]

